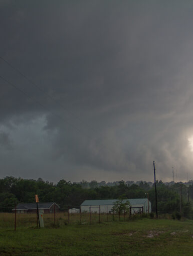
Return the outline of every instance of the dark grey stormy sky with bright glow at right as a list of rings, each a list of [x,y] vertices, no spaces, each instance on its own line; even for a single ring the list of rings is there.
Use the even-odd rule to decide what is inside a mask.
[[[0,178],[193,179],[192,12],[0,0]]]

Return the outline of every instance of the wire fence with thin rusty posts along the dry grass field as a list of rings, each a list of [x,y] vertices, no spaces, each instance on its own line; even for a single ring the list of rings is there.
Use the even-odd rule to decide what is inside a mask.
[[[96,212],[94,207],[89,207],[88,211],[81,211],[80,206],[70,206],[59,204],[59,207],[55,207],[51,212],[46,212],[43,209],[39,209],[39,213],[44,220],[44,227],[46,228],[59,228],[66,225],[73,224],[96,224],[102,222],[112,222],[112,221],[127,221],[132,218],[131,211],[133,210],[130,207],[129,212],[115,212],[108,211],[106,206],[106,212]],[[5,207],[9,212],[2,212],[5,210]],[[99,209],[101,206],[99,205]],[[104,208],[104,205],[103,205]],[[16,206],[13,205],[2,205],[0,204],[0,229],[17,229],[17,228],[35,228],[39,227],[38,214],[34,210],[31,212],[28,211],[19,211]],[[143,213],[143,209],[138,210],[136,214],[140,215]]]

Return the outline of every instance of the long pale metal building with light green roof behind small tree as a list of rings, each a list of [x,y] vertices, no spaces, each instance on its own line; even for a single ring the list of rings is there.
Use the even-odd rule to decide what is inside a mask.
[[[108,200],[85,200],[81,204],[81,212],[93,212],[93,213],[112,213],[113,206],[116,204],[118,199],[108,199]],[[125,199],[123,203],[129,201],[131,214],[145,212],[151,212],[151,202],[148,202],[147,198],[136,198],[136,199]]]

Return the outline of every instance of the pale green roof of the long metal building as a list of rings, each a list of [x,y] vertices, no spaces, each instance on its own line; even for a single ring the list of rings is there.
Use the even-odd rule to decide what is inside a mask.
[[[81,206],[86,205],[113,205],[115,202],[117,202],[119,199],[107,199],[107,200],[85,200]],[[123,203],[126,201],[129,201],[130,204],[144,204],[147,202],[147,198],[136,198],[136,199],[124,199]]]

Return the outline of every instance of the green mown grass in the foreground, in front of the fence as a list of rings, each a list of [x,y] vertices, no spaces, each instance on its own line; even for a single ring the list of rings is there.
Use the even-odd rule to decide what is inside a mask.
[[[0,255],[193,255],[193,221],[142,219],[0,230]]]

